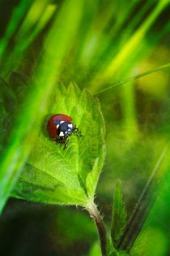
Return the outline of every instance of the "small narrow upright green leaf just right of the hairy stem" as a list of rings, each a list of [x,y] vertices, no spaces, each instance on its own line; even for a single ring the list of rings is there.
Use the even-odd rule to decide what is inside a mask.
[[[113,216],[111,236],[113,246],[117,248],[117,242],[121,238],[122,232],[125,229],[127,213],[125,204],[122,198],[121,182],[117,181],[115,193],[113,195]]]

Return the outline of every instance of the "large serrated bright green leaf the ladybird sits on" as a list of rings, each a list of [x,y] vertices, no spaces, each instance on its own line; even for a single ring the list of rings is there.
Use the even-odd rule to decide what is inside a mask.
[[[50,139],[46,129],[49,116],[58,113],[70,115],[83,134],[72,135],[66,150]],[[73,83],[67,89],[57,85],[48,117],[12,195],[36,202],[86,206],[93,200],[103,163],[104,119],[100,103]]]

